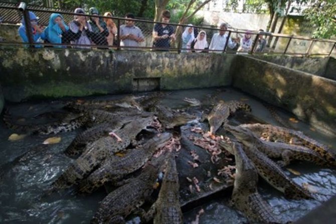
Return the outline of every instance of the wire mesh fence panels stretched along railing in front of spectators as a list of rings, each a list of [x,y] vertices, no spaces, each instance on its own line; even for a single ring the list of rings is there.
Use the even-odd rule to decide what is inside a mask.
[[[334,46],[334,41],[312,42],[309,38],[260,34],[257,31],[246,36],[246,31],[243,30],[154,23],[140,19],[89,15],[84,11],[73,13],[29,7],[22,12],[17,6],[0,5],[0,13],[3,23],[22,23],[16,34],[12,32],[12,37],[3,38],[1,43],[20,42],[25,47],[35,48],[110,48],[238,54],[272,52],[302,55],[316,52],[320,54],[318,48],[322,46],[325,49],[323,54],[327,55]],[[23,19],[24,15],[30,22],[28,25]]]

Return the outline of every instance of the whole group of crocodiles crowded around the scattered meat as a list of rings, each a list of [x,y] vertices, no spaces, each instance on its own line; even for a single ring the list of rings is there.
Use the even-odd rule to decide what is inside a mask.
[[[64,151],[75,160],[45,194],[67,188],[80,194],[92,193],[102,186],[114,189],[102,200],[91,223],[123,223],[130,214],[139,215],[143,222],[153,219],[154,223],[183,223],[175,162],[178,153],[166,150],[160,156],[153,155],[169,145],[173,138],[169,129],[197,117],[159,105],[160,97],[70,102],[64,106],[70,111],[69,116],[45,125],[13,124],[9,114],[4,120],[10,128],[32,134],[86,128]],[[202,106],[195,99],[185,101]],[[221,128],[231,133],[219,141],[219,146],[235,158],[233,205],[251,222],[283,223],[258,193],[258,175],[289,198],[314,198],[284,173],[283,166],[304,160],[333,167],[335,155],[299,131],[264,124],[229,125],[228,118],[237,110],[249,112],[251,107],[241,101],[219,100],[201,119],[208,121],[211,135]],[[142,138],[144,132],[147,135]],[[141,206],[146,201],[152,205],[144,210]]]

